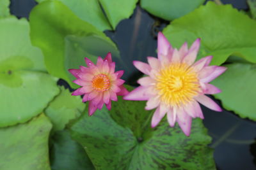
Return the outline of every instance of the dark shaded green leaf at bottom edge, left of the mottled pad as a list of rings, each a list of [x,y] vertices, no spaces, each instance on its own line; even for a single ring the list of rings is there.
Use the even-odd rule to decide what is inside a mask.
[[[52,136],[52,170],[91,170],[92,162],[84,148],[70,138],[68,131],[58,131]]]

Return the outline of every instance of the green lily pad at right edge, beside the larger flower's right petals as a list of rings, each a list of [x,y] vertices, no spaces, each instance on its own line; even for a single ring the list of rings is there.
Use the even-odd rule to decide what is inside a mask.
[[[223,107],[235,111],[242,118],[256,120],[256,65],[227,64],[227,71],[212,84],[222,92],[214,96],[221,100]]]

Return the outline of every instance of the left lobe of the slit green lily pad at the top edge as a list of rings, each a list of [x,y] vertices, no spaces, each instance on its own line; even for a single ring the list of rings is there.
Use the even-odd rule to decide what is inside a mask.
[[[42,3],[47,0],[36,0],[38,3]],[[105,17],[103,11],[100,8],[99,1],[97,0],[59,0],[70,10],[72,10],[77,17],[81,18],[95,27],[100,31],[106,29],[111,29],[111,26],[108,23],[107,18]]]

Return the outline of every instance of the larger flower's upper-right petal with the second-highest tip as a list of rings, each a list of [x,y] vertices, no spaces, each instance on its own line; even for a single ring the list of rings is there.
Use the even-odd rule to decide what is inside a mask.
[[[187,63],[189,66],[193,64],[196,60],[196,56],[199,48],[200,48],[200,38],[196,39],[196,41],[191,45],[187,55],[184,57],[182,62]]]

